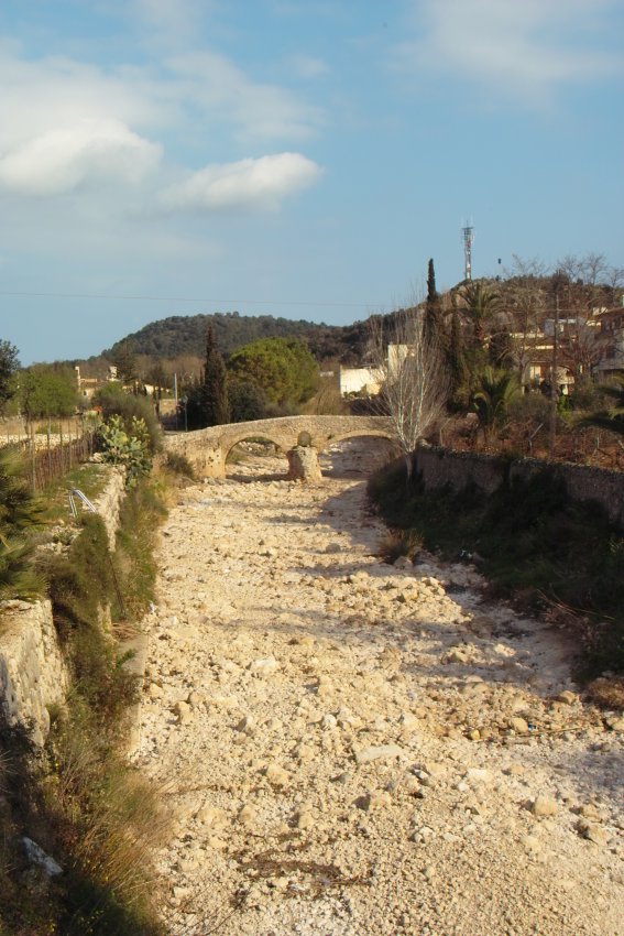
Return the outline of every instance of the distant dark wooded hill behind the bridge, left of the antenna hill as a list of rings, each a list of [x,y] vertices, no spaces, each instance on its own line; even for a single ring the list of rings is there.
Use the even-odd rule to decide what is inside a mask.
[[[303,319],[275,318],[272,315],[239,315],[215,313],[212,315],[174,315],[151,322],[139,331],[117,341],[103,351],[107,358],[114,357],[120,346],[127,342],[135,355],[152,358],[174,358],[178,355],[204,355],[206,330],[211,325],[221,352],[228,357],[236,348],[258,338],[298,338],[305,341],[317,360],[338,358],[343,363],[360,359],[366,341],[366,327],[362,322],[353,325],[317,325]]]

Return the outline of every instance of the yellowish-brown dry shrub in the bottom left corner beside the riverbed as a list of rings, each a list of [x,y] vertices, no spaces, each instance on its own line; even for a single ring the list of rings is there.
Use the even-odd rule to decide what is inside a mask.
[[[155,849],[171,835],[163,793],[97,738],[92,718],[77,706],[54,728],[48,807],[65,851],[67,933],[98,917],[101,929],[158,932],[153,899],[158,891]],[[85,928],[85,932],[90,932]]]

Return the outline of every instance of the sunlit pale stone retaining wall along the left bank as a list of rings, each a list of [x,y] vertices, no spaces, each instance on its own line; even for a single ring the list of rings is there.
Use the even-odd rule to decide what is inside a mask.
[[[107,486],[94,503],[101,515],[111,547],[124,496],[123,472],[110,467]],[[50,730],[48,706],[65,698],[69,673],[50,601],[0,602],[0,708],[10,723],[32,730],[42,744]]]

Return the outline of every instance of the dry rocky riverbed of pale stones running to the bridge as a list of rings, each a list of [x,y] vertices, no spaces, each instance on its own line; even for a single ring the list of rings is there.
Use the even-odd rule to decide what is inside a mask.
[[[381,535],[355,477],[172,510],[136,755],[177,816],[168,932],[624,934],[622,720],[472,569]]]

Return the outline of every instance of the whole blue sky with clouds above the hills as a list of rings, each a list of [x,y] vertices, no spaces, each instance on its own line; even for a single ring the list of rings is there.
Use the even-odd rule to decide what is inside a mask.
[[[0,0],[0,339],[624,265],[623,0]]]

